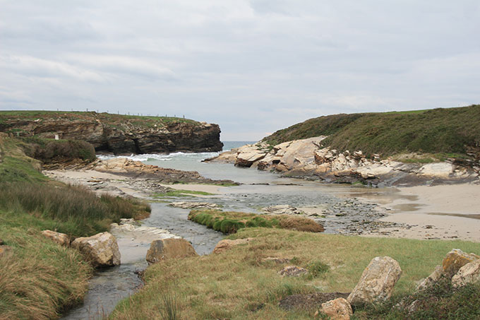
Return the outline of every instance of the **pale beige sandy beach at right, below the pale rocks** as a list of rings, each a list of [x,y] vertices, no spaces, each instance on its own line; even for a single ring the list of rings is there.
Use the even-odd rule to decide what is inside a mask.
[[[412,186],[356,196],[390,213],[380,220],[409,225],[383,228],[367,236],[480,242],[479,184]]]

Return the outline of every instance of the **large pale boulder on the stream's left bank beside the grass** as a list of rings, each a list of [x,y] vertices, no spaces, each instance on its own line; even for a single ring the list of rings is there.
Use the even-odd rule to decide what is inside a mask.
[[[73,240],[71,246],[82,252],[96,268],[120,264],[119,245],[109,232],[102,232],[92,237],[77,238]]]

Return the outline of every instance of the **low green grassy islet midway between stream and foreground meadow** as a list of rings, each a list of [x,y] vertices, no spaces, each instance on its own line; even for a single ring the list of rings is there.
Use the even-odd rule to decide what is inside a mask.
[[[223,233],[234,233],[244,227],[279,227],[300,231],[320,232],[323,230],[315,221],[289,215],[257,215],[219,210],[192,210],[188,220],[205,225]]]

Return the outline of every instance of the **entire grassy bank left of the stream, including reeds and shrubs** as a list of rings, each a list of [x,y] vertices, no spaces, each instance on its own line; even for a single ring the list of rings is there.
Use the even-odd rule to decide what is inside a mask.
[[[42,230],[94,235],[120,218],[139,218],[150,211],[135,199],[99,198],[86,189],[50,181],[24,148],[70,156],[81,143],[34,142],[0,134],[0,238],[7,248],[0,252],[0,319],[55,319],[82,300],[88,288],[88,263],[78,251],[43,237]]]

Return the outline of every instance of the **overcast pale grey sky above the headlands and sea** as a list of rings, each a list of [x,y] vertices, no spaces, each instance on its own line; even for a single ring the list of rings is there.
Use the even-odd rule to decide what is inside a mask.
[[[0,110],[168,115],[257,141],[480,103],[478,0],[0,0]]]

